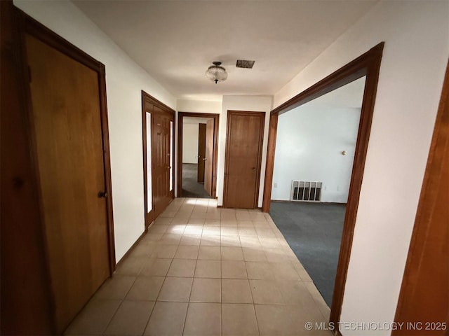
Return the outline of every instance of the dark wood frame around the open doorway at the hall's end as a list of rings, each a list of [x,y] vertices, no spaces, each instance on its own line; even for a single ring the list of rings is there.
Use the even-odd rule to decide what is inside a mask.
[[[220,115],[216,113],[178,112],[177,113],[177,197],[182,197],[182,128],[184,117],[213,118],[213,163],[212,163],[212,195],[217,198],[217,159],[218,159],[218,127]]]

